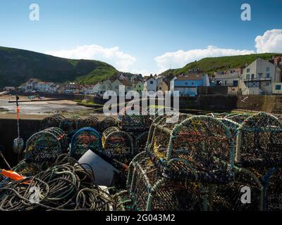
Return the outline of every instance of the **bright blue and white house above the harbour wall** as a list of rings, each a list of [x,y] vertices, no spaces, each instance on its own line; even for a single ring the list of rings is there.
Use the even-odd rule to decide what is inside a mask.
[[[204,74],[180,75],[171,80],[171,91],[179,91],[180,96],[197,96],[198,86],[209,86],[209,77]]]

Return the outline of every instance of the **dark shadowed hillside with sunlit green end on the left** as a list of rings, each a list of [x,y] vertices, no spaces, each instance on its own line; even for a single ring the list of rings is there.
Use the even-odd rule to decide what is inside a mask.
[[[116,73],[113,66],[97,60],[71,60],[0,46],[0,88],[19,86],[30,78],[96,84]]]

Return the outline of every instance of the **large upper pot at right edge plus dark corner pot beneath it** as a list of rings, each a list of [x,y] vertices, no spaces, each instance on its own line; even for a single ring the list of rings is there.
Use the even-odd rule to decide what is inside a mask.
[[[262,209],[281,210],[281,120],[266,113],[248,117],[238,128],[235,160],[262,188]]]

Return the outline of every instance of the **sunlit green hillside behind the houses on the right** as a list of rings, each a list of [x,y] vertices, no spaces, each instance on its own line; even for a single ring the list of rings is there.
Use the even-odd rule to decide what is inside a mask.
[[[202,72],[209,75],[213,75],[216,70],[226,70],[227,68],[239,68],[250,64],[257,58],[263,58],[265,60],[271,59],[272,56],[280,56],[281,53],[263,53],[263,54],[251,54],[244,56],[224,56],[216,58],[203,58],[202,60],[188,63],[183,68],[166,70],[161,75],[168,76],[169,74],[180,75],[188,72],[192,68],[200,68]]]

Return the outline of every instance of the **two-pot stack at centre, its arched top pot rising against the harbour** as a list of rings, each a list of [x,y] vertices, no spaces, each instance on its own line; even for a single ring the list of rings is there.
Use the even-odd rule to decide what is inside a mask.
[[[134,138],[135,155],[145,149],[148,130],[152,123],[152,118],[147,111],[141,107],[123,108],[118,116],[118,127]]]

